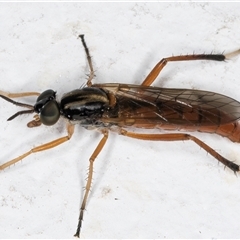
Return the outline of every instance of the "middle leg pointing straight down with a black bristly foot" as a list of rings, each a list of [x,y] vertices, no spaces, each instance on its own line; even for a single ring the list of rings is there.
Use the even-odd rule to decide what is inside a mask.
[[[78,219],[77,231],[76,231],[74,237],[80,236],[80,230],[81,230],[82,220],[83,220],[83,212],[86,207],[88,194],[89,194],[91,184],[92,184],[93,163],[94,163],[96,157],[98,156],[98,154],[102,151],[102,148],[104,147],[104,145],[108,139],[108,131],[103,130],[102,133],[103,133],[103,137],[102,137],[101,141],[99,142],[99,144],[97,145],[96,149],[94,150],[92,156],[89,159],[89,162],[90,162],[89,163],[89,172],[88,172],[87,183],[86,183],[86,187],[85,187],[85,194],[84,194],[82,205],[80,208],[80,215],[79,215],[79,219]]]

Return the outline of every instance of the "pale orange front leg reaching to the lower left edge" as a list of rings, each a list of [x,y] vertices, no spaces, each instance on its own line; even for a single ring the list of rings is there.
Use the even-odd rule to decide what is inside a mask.
[[[40,151],[45,151],[47,149],[50,149],[50,148],[54,148],[66,141],[68,141],[72,135],[73,135],[73,132],[74,132],[74,125],[71,125],[71,124],[68,124],[67,126],[67,132],[68,132],[68,135],[65,136],[65,137],[62,137],[62,138],[59,138],[59,139],[56,139],[54,141],[51,141],[51,142],[48,142],[48,143],[45,143],[43,145],[40,145],[38,147],[34,147],[32,148],[30,151],[24,153],[23,155],[17,157],[17,158],[14,158],[13,160],[11,161],[8,161],[2,165],[0,165],[0,171],[21,161],[22,159],[24,159],[25,157],[27,157],[28,155],[30,155],[31,153],[36,153],[36,152],[40,152]]]

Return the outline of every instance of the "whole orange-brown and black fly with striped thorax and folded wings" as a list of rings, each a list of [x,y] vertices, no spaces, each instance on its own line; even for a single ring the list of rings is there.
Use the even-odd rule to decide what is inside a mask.
[[[47,126],[54,125],[60,117],[67,120],[66,136],[32,148],[21,156],[0,165],[0,170],[21,161],[32,153],[54,148],[70,140],[76,124],[80,124],[89,130],[96,129],[103,135],[89,158],[89,173],[80,208],[78,226],[74,236],[80,236],[83,214],[92,185],[94,161],[104,147],[110,131],[140,140],[191,140],[219,162],[230,168],[234,173],[239,171],[239,165],[224,158],[200,139],[181,131],[216,133],[227,137],[233,142],[240,142],[240,102],[214,92],[158,88],[150,85],[168,62],[192,60],[224,61],[227,57],[239,54],[240,50],[228,55],[193,54],[163,58],[156,64],[141,85],[119,83],[93,84],[94,69],[89,49],[84,35],[79,35],[79,37],[90,68],[86,87],[64,94],[60,101],[56,99],[56,92],[51,89],[42,93],[8,93],[0,91],[1,98],[27,109],[18,111],[8,120],[12,120],[19,115],[35,113],[34,119],[27,124],[30,128],[38,127],[41,124]],[[34,105],[12,100],[13,98],[33,95],[37,96]],[[135,128],[136,132],[128,131],[128,127]],[[146,134],[139,133],[137,131],[139,128],[180,132]]]

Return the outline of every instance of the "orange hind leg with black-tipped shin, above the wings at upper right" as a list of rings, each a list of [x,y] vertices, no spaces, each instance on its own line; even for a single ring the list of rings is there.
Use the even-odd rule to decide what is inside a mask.
[[[153,70],[148,74],[146,79],[143,81],[142,86],[150,86],[162,69],[167,65],[168,62],[178,62],[178,61],[193,61],[193,60],[214,60],[214,61],[224,61],[226,56],[223,54],[198,54],[198,55],[182,55],[173,56],[168,58],[163,58]]]

